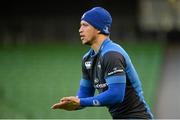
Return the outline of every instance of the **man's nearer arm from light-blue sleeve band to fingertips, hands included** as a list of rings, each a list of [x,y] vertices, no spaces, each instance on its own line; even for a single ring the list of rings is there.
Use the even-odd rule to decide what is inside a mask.
[[[121,80],[119,80],[121,79]],[[53,109],[78,110],[88,106],[108,106],[123,101],[125,94],[125,76],[112,76],[107,78],[108,90],[94,97],[78,98],[64,97],[59,103],[52,106]]]

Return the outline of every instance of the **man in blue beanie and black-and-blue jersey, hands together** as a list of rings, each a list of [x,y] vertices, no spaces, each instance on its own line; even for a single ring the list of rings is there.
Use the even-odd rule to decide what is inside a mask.
[[[106,106],[113,119],[151,119],[138,74],[125,50],[110,40],[111,15],[102,7],[85,12],[80,23],[82,44],[91,49],[82,59],[77,96],[64,97],[53,109],[79,110]],[[99,91],[94,95],[95,90]]]

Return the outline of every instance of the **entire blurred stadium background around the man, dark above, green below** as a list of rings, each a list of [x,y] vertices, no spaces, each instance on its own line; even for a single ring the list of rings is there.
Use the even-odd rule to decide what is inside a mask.
[[[0,118],[109,119],[104,107],[52,110],[81,76],[81,15],[102,6],[111,39],[129,53],[155,118],[180,118],[179,0],[4,1],[0,7]]]

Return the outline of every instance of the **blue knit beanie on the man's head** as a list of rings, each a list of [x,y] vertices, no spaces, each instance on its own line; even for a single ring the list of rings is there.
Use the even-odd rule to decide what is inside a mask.
[[[93,27],[101,31],[102,34],[110,34],[112,17],[110,13],[102,7],[94,7],[85,12],[81,17],[81,20],[88,22]]]

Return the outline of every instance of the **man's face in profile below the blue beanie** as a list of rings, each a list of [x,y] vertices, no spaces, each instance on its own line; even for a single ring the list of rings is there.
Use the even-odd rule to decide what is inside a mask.
[[[92,45],[95,42],[99,31],[86,21],[82,20],[80,23],[79,33],[82,44]]]

